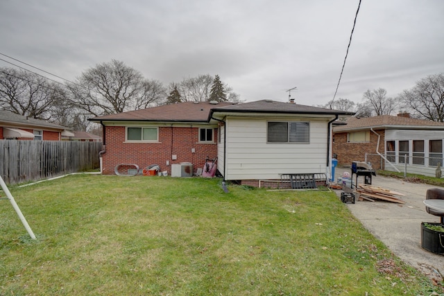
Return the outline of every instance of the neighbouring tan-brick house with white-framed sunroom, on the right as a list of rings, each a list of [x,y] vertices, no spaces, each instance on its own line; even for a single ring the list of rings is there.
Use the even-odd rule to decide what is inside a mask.
[[[375,169],[404,171],[407,155],[409,173],[434,176],[438,162],[443,164],[443,141],[444,123],[408,113],[351,117],[333,128],[333,153],[341,166],[367,160]]]

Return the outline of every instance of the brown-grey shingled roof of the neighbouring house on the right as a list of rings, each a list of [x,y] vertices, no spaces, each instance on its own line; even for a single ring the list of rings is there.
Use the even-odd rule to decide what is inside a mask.
[[[370,128],[379,129],[437,129],[443,130],[444,123],[436,121],[428,121],[421,119],[413,119],[402,116],[373,116],[373,117],[351,117],[346,121],[346,125],[339,125],[333,128],[334,132],[348,131],[348,130],[364,130]]]

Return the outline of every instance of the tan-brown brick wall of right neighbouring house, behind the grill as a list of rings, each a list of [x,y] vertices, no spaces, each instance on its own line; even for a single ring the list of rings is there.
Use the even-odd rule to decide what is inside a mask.
[[[381,135],[379,139],[379,153],[384,155],[385,151],[385,131],[375,130]],[[364,161],[366,153],[371,154],[367,156],[367,162],[371,162],[375,169],[381,168],[381,157],[376,155],[377,135],[370,131],[370,141],[368,143],[348,143],[347,132],[335,132],[332,152],[338,155],[338,166],[351,166],[352,161]]]

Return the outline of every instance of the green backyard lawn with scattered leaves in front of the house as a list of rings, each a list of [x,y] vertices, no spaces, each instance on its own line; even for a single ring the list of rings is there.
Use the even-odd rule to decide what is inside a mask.
[[[0,200],[0,295],[434,291],[335,193],[228,189],[216,178],[101,175],[12,187],[37,240]]]

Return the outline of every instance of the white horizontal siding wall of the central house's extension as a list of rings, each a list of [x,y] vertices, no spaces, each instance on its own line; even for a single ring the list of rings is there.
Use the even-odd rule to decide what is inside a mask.
[[[267,143],[267,121],[309,121],[310,143]],[[226,180],[278,180],[282,173],[325,173],[327,120],[226,119]]]

